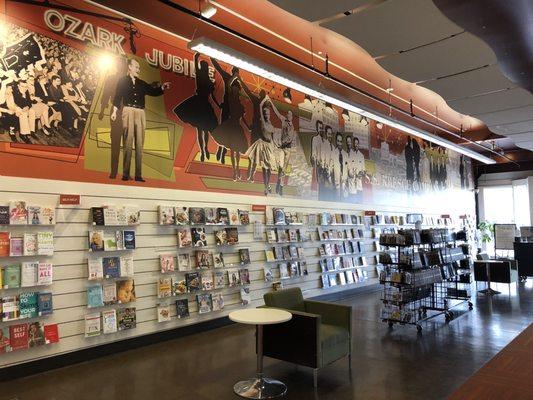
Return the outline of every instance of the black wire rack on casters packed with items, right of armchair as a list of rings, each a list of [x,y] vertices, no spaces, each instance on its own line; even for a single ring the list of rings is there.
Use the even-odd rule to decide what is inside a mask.
[[[383,234],[380,254],[383,285],[381,319],[394,324],[415,325],[444,314],[446,322],[454,318],[451,310],[470,301],[470,269],[462,268],[467,256],[445,229],[400,231]],[[422,234],[421,234],[422,233]],[[453,243],[453,247],[452,246]]]

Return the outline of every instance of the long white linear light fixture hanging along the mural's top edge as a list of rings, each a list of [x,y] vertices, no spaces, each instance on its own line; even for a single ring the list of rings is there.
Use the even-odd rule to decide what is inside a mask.
[[[318,87],[312,84],[303,82],[300,79],[292,77],[289,74],[277,70],[276,68],[271,67],[265,63],[262,63],[257,60],[252,60],[247,55],[240,53],[230,47],[217,43],[211,39],[199,37],[190,41],[188,47],[192,51],[196,51],[198,53],[205,54],[209,57],[216,58],[217,60],[233,65],[252,74],[258,75],[262,78],[269,79],[273,82],[279,83],[280,85],[297,90],[308,96],[315,97],[327,103],[334,104],[340,108],[355,112],[361,115],[362,117],[367,117],[373,119],[376,122],[381,122],[409,135],[417,136],[421,139],[428,140],[436,145],[457,151],[458,153],[474,158],[478,161],[481,161],[482,163],[496,163],[495,160],[489,157],[485,157],[484,155],[476,153],[475,151],[472,151],[465,147],[459,146],[439,136],[424,132],[423,130],[418,129],[403,121],[401,122],[390,117],[385,117],[380,114],[376,114],[375,112],[369,109],[354,105],[353,103],[350,103],[349,100],[343,100],[335,93],[326,91],[324,89],[319,89]]]

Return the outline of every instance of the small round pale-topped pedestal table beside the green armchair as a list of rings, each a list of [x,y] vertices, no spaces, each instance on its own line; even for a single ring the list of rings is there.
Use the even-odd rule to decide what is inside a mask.
[[[257,328],[257,376],[237,382],[233,386],[235,394],[248,399],[272,399],[287,393],[283,382],[263,377],[263,325],[281,324],[292,318],[292,314],[276,308],[249,308],[233,311],[229,319],[241,324],[255,325]]]

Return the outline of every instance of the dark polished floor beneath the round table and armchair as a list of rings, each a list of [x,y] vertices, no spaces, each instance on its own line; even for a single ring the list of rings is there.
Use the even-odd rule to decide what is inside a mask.
[[[445,399],[533,322],[533,280],[497,288],[449,324],[424,323],[420,335],[379,320],[379,292],[345,299],[354,309],[351,375],[340,360],[320,371],[315,391],[307,368],[266,359],[265,373],[287,384],[287,399]],[[254,369],[254,330],[231,325],[1,383],[0,400],[235,399],[233,384]]]

